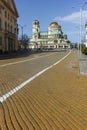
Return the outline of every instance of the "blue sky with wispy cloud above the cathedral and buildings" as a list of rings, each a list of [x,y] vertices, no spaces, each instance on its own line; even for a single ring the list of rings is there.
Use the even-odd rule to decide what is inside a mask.
[[[71,42],[85,39],[87,22],[87,0],[14,0],[18,10],[18,24],[23,34],[32,35],[32,23],[39,20],[40,31],[48,31],[51,22],[58,22]],[[80,10],[82,11],[80,12]],[[80,24],[80,21],[82,21]],[[19,26],[19,37],[22,29]]]

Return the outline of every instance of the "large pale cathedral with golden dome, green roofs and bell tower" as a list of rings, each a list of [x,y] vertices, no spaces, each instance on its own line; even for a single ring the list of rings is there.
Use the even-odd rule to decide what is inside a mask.
[[[47,32],[40,32],[40,23],[38,20],[34,20],[29,48],[70,48],[70,41],[68,40],[67,35],[62,32],[59,23],[52,22],[48,26]]]

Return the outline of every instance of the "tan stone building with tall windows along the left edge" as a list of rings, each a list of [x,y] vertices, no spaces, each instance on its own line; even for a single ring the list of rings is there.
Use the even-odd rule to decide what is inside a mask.
[[[18,49],[17,18],[14,0],[0,0],[0,53]]]

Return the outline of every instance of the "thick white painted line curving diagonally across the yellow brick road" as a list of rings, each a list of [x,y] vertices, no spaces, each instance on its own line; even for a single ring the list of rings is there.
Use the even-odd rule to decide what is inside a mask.
[[[38,76],[40,76],[41,74],[43,74],[45,71],[47,71],[48,69],[51,69],[52,67],[54,67],[55,65],[59,64],[61,61],[63,61],[69,54],[71,53],[71,51],[64,56],[62,59],[60,59],[59,61],[57,61],[56,63],[54,63],[53,65],[43,69],[42,71],[40,71],[39,73],[35,74],[33,77],[29,78],[28,80],[26,80],[25,82],[21,83],[19,86],[15,87],[14,89],[12,89],[11,91],[9,91],[8,93],[4,94],[3,96],[0,97],[0,102],[4,102],[7,98],[9,98],[10,96],[12,96],[14,93],[16,93],[18,90],[20,90],[21,88],[23,88],[25,85],[27,85],[28,83],[30,83],[32,80],[34,80],[35,78],[37,78]]]

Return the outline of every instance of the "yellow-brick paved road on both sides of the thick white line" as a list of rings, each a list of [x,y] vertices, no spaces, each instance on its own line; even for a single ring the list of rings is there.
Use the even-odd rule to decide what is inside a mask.
[[[33,76],[64,55],[59,52],[42,57],[34,55],[33,60],[24,62],[26,58],[20,59],[22,62],[17,64],[11,61],[18,62],[18,59],[10,60],[11,64],[0,67],[0,73],[9,70],[2,73],[6,79],[0,75],[3,81],[6,80],[0,86],[1,92],[4,94],[30,78],[29,65],[32,65]],[[62,62],[0,103],[0,130],[87,130],[87,76],[79,73],[77,51],[72,51]]]

